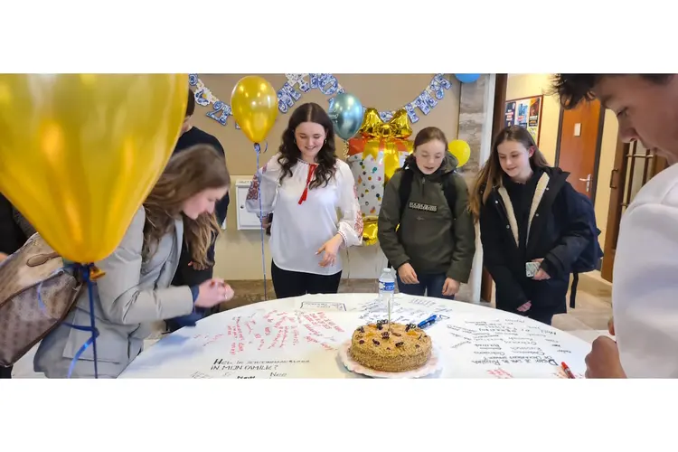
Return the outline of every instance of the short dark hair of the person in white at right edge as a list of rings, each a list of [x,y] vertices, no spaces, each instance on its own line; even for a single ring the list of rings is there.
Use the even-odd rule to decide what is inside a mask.
[[[562,108],[576,108],[582,101],[596,99],[594,87],[606,77],[638,75],[645,80],[661,84],[673,74],[556,74],[551,81],[551,92],[558,95]]]

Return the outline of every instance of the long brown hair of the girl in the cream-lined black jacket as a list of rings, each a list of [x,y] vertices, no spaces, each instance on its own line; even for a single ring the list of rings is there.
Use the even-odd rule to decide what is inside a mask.
[[[532,134],[524,127],[520,126],[509,126],[504,127],[497,136],[494,138],[494,145],[492,146],[492,153],[490,158],[487,159],[485,165],[480,169],[476,177],[476,184],[474,185],[473,191],[469,199],[469,209],[473,213],[476,221],[480,218],[480,208],[481,205],[487,202],[487,198],[490,193],[494,190],[494,187],[502,185],[502,165],[499,164],[499,145],[505,141],[517,141],[518,143],[525,146],[525,149],[530,150],[534,149],[532,156],[530,157],[530,166],[534,168],[545,168],[549,166],[549,162],[546,161],[546,157],[541,154],[541,151],[534,143],[534,138]],[[481,194],[481,192],[483,192]]]

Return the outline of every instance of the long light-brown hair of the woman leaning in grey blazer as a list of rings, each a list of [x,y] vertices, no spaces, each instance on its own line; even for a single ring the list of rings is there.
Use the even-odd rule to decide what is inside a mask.
[[[163,236],[174,229],[174,220],[184,220],[184,242],[189,245],[193,267],[202,270],[213,265],[207,251],[219,235],[213,213],[202,213],[191,220],[182,212],[184,202],[210,188],[231,184],[226,161],[212,146],[192,146],[174,155],[144,202],[144,260],[150,259]]]

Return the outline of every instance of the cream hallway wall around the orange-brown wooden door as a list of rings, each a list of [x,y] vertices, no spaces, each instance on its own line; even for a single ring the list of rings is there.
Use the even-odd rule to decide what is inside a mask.
[[[556,142],[558,140],[558,119],[560,106],[558,99],[547,96],[551,83],[551,74],[511,74],[506,86],[506,100],[521,99],[544,95],[541,112],[541,135],[539,148],[551,165],[555,165]],[[600,147],[598,177],[596,186],[596,221],[600,229],[600,246],[605,245],[607,214],[609,211],[609,175],[615,162],[617,147],[617,118],[611,111],[605,112],[603,140]]]

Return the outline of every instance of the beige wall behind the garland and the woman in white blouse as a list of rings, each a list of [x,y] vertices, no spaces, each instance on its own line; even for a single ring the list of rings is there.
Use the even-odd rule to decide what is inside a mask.
[[[240,80],[242,74],[210,75],[201,74],[200,78],[205,86],[212,90],[217,98],[230,103],[231,90]],[[264,77],[274,89],[279,89],[287,80],[283,74],[267,74]],[[366,108],[374,107],[378,110],[400,108],[412,101],[428,86],[433,74],[416,75],[358,75],[343,74],[337,77],[347,92],[358,97]],[[438,101],[428,116],[417,110],[419,121],[412,124],[413,135],[428,126],[440,127],[449,140],[457,137],[459,122],[459,92],[460,84],[454,77],[450,79],[452,88],[446,90],[445,98]],[[328,97],[318,89],[311,89],[302,93],[301,99],[295,106],[305,102],[316,102],[325,109],[329,107]],[[294,108],[294,107],[293,107]],[[193,124],[219,138],[226,151],[226,160],[235,182],[239,178],[251,178],[257,168],[256,155],[252,145],[242,132],[234,127],[233,118],[229,118],[227,126],[221,126],[205,114],[211,107],[196,105]],[[261,156],[261,165],[276,153],[280,143],[280,136],[287,127],[290,112],[278,114],[278,120],[268,134],[268,152]],[[343,142],[337,140],[337,154],[343,156]],[[215,275],[228,279],[259,279],[261,270],[261,241],[259,231],[238,231],[236,226],[236,211],[239,208],[235,201],[235,188],[231,186],[231,205],[227,219],[227,231],[221,234],[217,244]],[[267,277],[270,278],[270,252],[268,251],[268,237],[265,240]],[[344,251],[344,278],[377,278],[381,268],[386,265],[378,245],[353,248]]]

